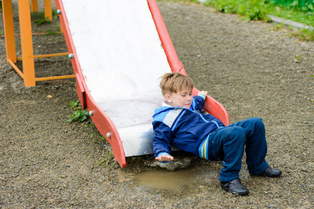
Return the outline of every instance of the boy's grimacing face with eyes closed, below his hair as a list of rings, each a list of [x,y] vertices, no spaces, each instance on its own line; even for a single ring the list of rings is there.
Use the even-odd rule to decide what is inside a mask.
[[[184,90],[178,91],[177,93],[169,93],[165,95],[165,99],[169,102],[172,107],[184,107],[190,109],[192,104],[193,96],[192,91]]]

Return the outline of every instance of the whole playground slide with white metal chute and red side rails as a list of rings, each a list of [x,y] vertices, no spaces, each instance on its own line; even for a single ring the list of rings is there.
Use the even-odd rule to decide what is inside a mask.
[[[153,153],[151,116],[163,102],[158,78],[186,75],[156,1],[55,1],[77,95],[115,159],[126,167],[126,157]],[[205,109],[227,125],[223,106],[207,101]]]

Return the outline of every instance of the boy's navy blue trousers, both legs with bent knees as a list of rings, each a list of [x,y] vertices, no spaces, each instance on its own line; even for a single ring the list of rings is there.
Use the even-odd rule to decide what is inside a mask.
[[[244,147],[246,164],[251,174],[259,174],[267,169],[267,142],[262,119],[249,118],[211,133],[209,160],[223,160],[219,180],[230,181],[239,178]]]

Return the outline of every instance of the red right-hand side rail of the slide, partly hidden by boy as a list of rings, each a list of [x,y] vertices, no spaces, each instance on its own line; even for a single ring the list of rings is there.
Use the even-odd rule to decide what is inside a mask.
[[[174,49],[156,0],[147,0],[147,3],[149,5],[149,9],[151,10],[151,15],[154,19],[159,38],[161,40],[161,43],[163,44],[163,49],[165,50],[165,54],[167,56],[167,60],[170,64],[172,72],[180,72],[183,75],[187,75],[186,70],[184,70],[184,66],[179,61],[177,52]],[[198,92],[199,91],[197,90],[197,88],[193,88],[193,95],[197,95]],[[221,122],[223,122],[223,124],[230,125],[230,118],[227,110],[225,109],[225,107],[223,107],[223,104],[220,104],[217,100],[214,100],[214,98],[207,96],[204,109],[209,114],[218,118]]]

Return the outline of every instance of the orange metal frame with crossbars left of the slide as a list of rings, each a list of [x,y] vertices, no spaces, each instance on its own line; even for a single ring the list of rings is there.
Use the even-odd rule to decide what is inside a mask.
[[[38,11],[37,0],[31,0],[32,11]],[[31,9],[29,0],[18,0],[19,8],[19,20],[20,20],[20,37],[21,37],[21,49],[22,56],[16,56],[15,50],[15,34],[13,26],[13,8],[12,0],[2,0],[3,10],[3,25],[4,36],[6,39],[6,58],[8,63],[13,67],[22,79],[24,79],[25,86],[36,86],[36,82],[52,80],[52,79],[66,79],[74,78],[75,75],[62,75],[53,77],[35,77],[35,58],[50,57],[50,56],[65,56],[68,52],[57,54],[41,54],[33,55],[33,34],[31,33]],[[52,6],[51,0],[45,0],[45,17],[52,20]],[[15,63],[17,60],[22,60],[23,72],[17,68]]]

